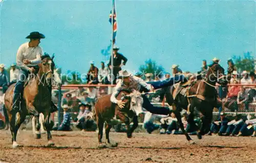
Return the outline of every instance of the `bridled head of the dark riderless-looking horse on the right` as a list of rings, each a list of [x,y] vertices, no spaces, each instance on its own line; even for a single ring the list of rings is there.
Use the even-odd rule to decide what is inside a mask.
[[[212,64],[208,67],[206,74],[207,82],[215,84],[216,82],[220,85],[224,85],[226,83],[226,77],[224,73],[224,68],[219,64]]]

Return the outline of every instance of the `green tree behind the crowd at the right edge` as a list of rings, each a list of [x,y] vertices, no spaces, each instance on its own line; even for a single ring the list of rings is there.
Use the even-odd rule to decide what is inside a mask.
[[[252,52],[244,52],[244,56],[232,56],[234,64],[236,65],[238,72],[242,71],[254,71],[255,58],[252,55]]]

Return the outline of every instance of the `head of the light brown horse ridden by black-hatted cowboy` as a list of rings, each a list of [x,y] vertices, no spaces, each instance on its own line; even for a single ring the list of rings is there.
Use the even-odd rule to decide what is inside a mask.
[[[48,85],[51,85],[53,74],[54,74],[54,56],[51,58],[49,55],[44,55],[41,57],[41,64],[40,67],[40,75],[46,80]]]

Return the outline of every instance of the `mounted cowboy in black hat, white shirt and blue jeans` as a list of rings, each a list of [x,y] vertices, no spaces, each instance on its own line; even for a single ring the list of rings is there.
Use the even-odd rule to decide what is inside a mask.
[[[35,67],[41,63],[42,48],[39,46],[40,39],[44,39],[45,35],[39,32],[31,32],[26,39],[30,39],[19,46],[17,51],[16,62],[20,67],[17,83],[14,88],[13,111],[19,111],[20,93],[23,91],[24,83],[29,75],[33,73]]]

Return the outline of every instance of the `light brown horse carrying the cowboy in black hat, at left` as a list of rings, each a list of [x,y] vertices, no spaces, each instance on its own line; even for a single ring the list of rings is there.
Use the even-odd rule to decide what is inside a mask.
[[[38,64],[39,70],[37,74],[30,74],[28,84],[24,88],[22,94],[22,102],[20,103],[19,116],[15,123],[16,113],[12,111],[13,105],[13,91],[14,84],[11,85],[6,91],[5,106],[8,112],[11,133],[12,133],[12,147],[18,147],[16,143],[17,131],[20,125],[24,122],[26,115],[33,115],[36,117],[36,135],[40,139],[40,123],[39,113],[45,115],[45,123],[48,136],[48,144],[54,145],[52,142],[52,135],[50,132],[50,114],[51,114],[51,92],[50,89],[53,79],[54,62],[53,58],[47,57]]]

